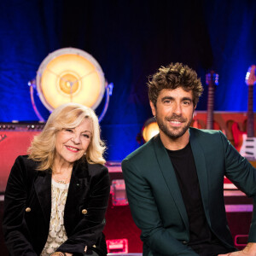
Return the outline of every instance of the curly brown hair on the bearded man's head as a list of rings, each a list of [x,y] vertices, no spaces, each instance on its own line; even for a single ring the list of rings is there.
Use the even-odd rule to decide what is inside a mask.
[[[163,89],[177,89],[182,87],[183,90],[193,92],[193,104],[196,106],[199,97],[202,94],[203,87],[201,79],[197,77],[195,70],[183,65],[182,63],[171,63],[167,67],[160,67],[157,73],[148,79],[148,97],[156,107],[156,101]]]

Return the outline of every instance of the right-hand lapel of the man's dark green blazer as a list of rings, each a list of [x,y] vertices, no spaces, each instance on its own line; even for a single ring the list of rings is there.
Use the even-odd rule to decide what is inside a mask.
[[[208,176],[207,176],[207,165],[206,165],[206,159],[205,155],[203,153],[203,150],[201,148],[201,145],[198,141],[198,138],[196,138],[195,133],[193,129],[189,129],[189,140],[190,145],[192,148],[192,152],[195,159],[195,166],[197,171],[197,176],[200,184],[200,190],[201,190],[201,199],[203,202],[204,210],[206,213],[208,224],[211,224],[210,221],[210,214],[209,214],[209,201],[208,201]]]

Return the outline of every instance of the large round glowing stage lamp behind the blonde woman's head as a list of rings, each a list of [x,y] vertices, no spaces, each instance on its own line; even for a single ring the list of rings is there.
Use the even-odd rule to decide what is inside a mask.
[[[107,87],[108,83],[99,63],[82,49],[55,50],[38,68],[38,96],[50,112],[67,102],[76,102],[96,109],[102,102]],[[109,90],[112,90],[112,87],[108,88],[108,92]],[[33,99],[32,104],[35,109]]]

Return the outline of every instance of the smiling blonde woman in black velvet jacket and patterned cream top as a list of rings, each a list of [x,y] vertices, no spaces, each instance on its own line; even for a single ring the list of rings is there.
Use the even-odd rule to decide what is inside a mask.
[[[104,150],[93,110],[55,108],[9,175],[3,232],[11,256],[107,254]]]

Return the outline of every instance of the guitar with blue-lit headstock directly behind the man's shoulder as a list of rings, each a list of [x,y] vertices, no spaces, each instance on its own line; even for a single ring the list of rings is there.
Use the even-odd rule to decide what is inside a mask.
[[[218,73],[213,70],[206,75],[206,83],[208,85],[208,101],[207,101],[207,129],[220,130],[220,126],[213,120],[214,110],[214,93],[215,87],[218,85]]]

